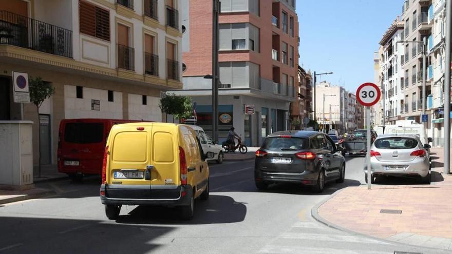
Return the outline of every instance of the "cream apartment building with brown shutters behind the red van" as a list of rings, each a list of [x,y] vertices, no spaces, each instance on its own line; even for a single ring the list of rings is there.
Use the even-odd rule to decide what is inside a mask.
[[[1,1],[0,120],[34,121],[44,164],[56,163],[62,119],[162,121],[161,92],[182,88],[180,2]],[[13,71],[55,88],[39,110],[41,133],[34,105],[13,102]]]

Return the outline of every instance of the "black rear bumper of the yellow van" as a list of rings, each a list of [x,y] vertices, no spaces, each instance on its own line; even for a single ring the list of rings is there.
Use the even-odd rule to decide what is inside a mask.
[[[104,205],[189,205],[193,197],[191,185],[122,185],[102,184]]]

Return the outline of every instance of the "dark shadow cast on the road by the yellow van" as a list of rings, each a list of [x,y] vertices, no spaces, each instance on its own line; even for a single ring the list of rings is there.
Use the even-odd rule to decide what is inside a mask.
[[[190,221],[180,219],[179,209],[163,206],[138,206],[116,221],[121,224],[216,224],[244,220],[246,203],[235,202],[228,196],[210,195],[209,200],[195,201],[195,217]]]

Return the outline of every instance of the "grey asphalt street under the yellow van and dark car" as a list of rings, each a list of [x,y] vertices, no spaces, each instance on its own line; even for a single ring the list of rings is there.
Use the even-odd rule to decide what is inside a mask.
[[[141,206],[123,206],[109,221],[99,178],[41,183],[57,194],[0,206],[0,253],[447,253],[351,235],[310,216],[338,189],[364,183],[363,161],[347,158],[346,181],[322,194],[282,184],[259,192],[254,161],[211,164],[211,196],[195,202],[192,221]]]

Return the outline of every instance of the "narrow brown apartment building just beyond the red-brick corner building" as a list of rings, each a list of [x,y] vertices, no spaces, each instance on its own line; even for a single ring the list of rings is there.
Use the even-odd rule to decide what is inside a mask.
[[[299,126],[292,125],[293,129],[303,129],[309,124],[312,111],[312,75],[298,66],[298,88],[295,87],[295,102],[290,104],[290,120],[298,119]],[[292,122],[291,122],[292,123]]]

